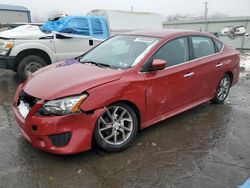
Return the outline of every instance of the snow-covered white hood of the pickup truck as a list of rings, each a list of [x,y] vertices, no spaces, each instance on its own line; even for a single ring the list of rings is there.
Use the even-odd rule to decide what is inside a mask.
[[[7,39],[39,39],[46,36],[47,35],[39,29],[39,26],[34,25],[22,25],[0,32],[0,37]]]

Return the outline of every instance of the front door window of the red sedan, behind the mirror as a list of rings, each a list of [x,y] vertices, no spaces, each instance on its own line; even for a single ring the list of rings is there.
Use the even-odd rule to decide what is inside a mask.
[[[189,60],[188,40],[186,37],[167,42],[154,55],[153,59],[164,59],[168,67],[178,65]]]

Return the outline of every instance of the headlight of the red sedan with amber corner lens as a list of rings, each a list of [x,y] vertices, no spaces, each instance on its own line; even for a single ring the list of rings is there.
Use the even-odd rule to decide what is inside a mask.
[[[67,97],[63,99],[45,102],[38,110],[40,115],[66,115],[79,112],[79,106],[86,99],[88,94],[84,93],[79,96]]]

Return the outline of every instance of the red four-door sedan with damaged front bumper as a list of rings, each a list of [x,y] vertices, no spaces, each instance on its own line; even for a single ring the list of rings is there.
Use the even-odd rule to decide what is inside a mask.
[[[13,109],[35,148],[72,154],[96,142],[119,151],[138,130],[222,103],[238,77],[239,54],[213,35],[138,31],[38,70],[18,87]]]

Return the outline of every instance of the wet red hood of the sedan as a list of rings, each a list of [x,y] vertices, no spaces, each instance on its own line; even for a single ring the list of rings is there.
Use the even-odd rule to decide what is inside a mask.
[[[31,96],[53,100],[78,95],[96,86],[121,78],[124,70],[114,70],[76,60],[67,60],[44,67],[32,75],[23,86]]]

